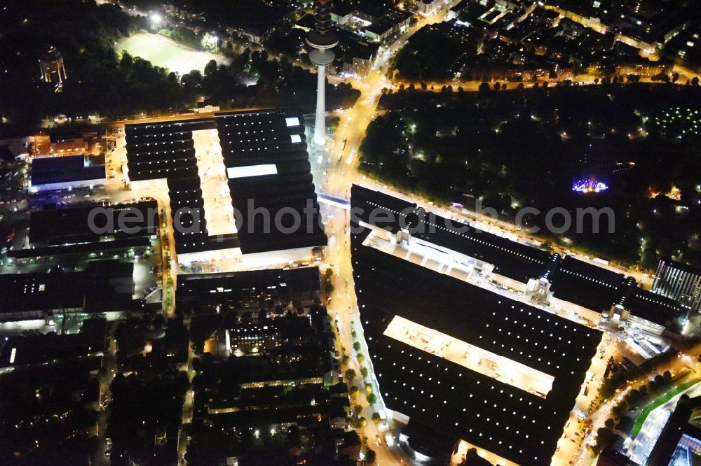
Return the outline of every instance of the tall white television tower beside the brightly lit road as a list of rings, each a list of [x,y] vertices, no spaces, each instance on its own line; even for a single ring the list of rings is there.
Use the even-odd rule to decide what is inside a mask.
[[[314,26],[309,31],[307,43],[313,48],[309,59],[317,66],[316,85],[316,120],[314,124],[314,143],[326,145],[326,66],[332,64],[336,55],[331,50],[339,43],[339,38],[331,31],[331,0],[315,0]]]

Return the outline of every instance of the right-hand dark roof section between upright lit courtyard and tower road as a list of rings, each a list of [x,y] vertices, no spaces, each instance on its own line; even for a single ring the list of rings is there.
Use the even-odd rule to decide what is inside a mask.
[[[241,225],[238,240],[244,254],[271,250],[326,246],[319,204],[308,161],[301,114],[289,110],[217,113],[222,155],[227,169],[274,165],[275,173],[229,179],[229,190]],[[313,209],[307,222],[306,206]],[[269,212],[269,227],[250,208]],[[301,218],[296,230],[290,212]],[[274,222],[278,213],[283,225]]]

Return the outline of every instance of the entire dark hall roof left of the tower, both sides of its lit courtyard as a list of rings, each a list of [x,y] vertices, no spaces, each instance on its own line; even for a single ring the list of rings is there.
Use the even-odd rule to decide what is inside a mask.
[[[287,118],[297,118],[296,124],[291,124]],[[129,177],[133,181],[166,178],[170,192],[177,192],[170,200],[172,212],[188,207],[200,213],[196,232],[179,234],[176,229],[175,248],[179,254],[236,247],[247,254],[325,246],[327,238],[320,226],[302,123],[301,114],[295,111],[269,110],[217,113],[214,117],[200,120],[127,125]],[[275,164],[278,171],[274,176],[233,178],[229,181],[233,206],[243,217],[237,220],[243,220],[243,227],[236,234],[223,237],[210,236],[207,232],[192,139],[195,130],[215,128],[219,132],[226,167]],[[306,231],[306,222],[292,233],[280,231],[272,221],[269,231],[261,223],[247,222],[249,202],[268,209],[272,220],[283,209],[294,209],[302,215],[307,201],[316,209],[309,231]],[[262,222],[261,218],[256,220]],[[289,214],[287,220],[288,223],[292,222]],[[193,219],[185,215],[182,224],[190,227]]]

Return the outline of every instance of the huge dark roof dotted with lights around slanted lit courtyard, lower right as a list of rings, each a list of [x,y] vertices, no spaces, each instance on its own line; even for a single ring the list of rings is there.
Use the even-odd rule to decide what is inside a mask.
[[[601,332],[362,246],[351,236],[365,337],[383,400],[522,465],[550,464]],[[545,399],[383,335],[402,316],[554,377]]]

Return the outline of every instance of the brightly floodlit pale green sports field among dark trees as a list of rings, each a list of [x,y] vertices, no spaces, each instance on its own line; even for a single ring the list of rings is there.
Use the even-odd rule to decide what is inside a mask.
[[[214,59],[222,63],[222,57],[210,52],[201,52],[180,45],[160,34],[139,32],[117,45],[117,55],[126,50],[130,55],[142,57],[156,66],[163,66],[180,74],[193,69],[204,71],[205,65]]]

